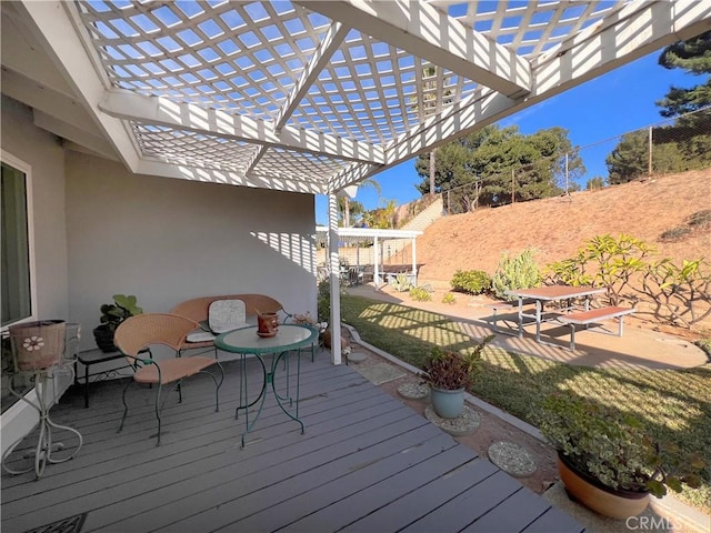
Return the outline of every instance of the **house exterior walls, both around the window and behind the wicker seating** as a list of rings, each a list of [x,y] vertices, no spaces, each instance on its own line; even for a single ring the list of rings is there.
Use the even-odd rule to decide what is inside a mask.
[[[1,122],[2,149],[32,172],[36,318],[79,322],[80,350],[96,348],[99,308],[117,293],[136,294],[146,312],[264,293],[316,315],[312,195],[132,174],[64,151],[6,97]],[[3,413],[2,453],[36,423],[24,402]]]

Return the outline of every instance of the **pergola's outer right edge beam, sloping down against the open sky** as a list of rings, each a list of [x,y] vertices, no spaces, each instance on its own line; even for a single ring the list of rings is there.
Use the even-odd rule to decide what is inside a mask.
[[[583,40],[572,41],[570,48],[539,64],[525,99],[512,100],[493,91],[472,94],[387,144],[384,168],[498,122],[654,50],[711,30],[711,3],[694,0],[637,1],[615,17],[615,24],[585,33]]]

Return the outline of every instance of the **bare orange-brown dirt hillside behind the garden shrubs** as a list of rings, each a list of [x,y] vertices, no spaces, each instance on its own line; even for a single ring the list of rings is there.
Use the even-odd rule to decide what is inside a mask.
[[[660,240],[705,209],[711,209],[711,169],[443,217],[418,238],[419,280],[444,288],[459,269],[491,274],[503,251],[525,248],[537,250],[542,266],[572,257],[584,241],[604,233],[654,244],[660,257],[711,259],[709,225],[679,242]]]

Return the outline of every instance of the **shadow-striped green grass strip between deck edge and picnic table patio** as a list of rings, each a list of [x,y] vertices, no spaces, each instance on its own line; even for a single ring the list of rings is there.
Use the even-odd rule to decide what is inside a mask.
[[[360,296],[343,295],[343,321],[368,343],[422,368],[433,345],[465,352],[472,340],[448,318]],[[474,341],[479,341],[475,339]],[[472,394],[527,422],[555,391],[634,414],[648,431],[707,463],[705,484],[679,497],[711,512],[711,364],[690,370],[609,370],[549,361],[488,346]]]

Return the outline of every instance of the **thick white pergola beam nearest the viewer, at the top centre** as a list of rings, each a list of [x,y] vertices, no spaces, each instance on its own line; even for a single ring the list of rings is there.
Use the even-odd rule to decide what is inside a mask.
[[[531,67],[525,59],[424,2],[296,3],[508,97],[519,98],[530,90]]]

